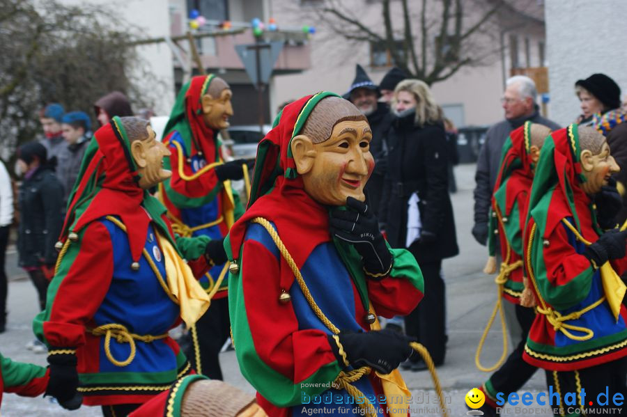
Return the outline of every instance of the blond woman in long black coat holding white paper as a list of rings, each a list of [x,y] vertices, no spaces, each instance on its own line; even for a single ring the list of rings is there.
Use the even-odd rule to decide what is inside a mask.
[[[408,248],[424,276],[425,297],[405,317],[405,333],[416,337],[435,365],[441,365],[447,342],[442,259],[459,252],[442,110],[423,81],[405,79],[394,89],[392,111],[380,222],[389,244]],[[426,365],[413,361],[404,368],[422,370]]]

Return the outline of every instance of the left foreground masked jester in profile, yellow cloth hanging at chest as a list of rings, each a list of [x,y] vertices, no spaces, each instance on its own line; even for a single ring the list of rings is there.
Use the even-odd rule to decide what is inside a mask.
[[[209,306],[194,275],[209,267],[210,239],[175,237],[146,191],[169,175],[167,153],[146,120],[118,117],[86,150],[46,309],[33,322],[49,345],[47,393],[61,405],[76,391],[87,405],[139,405],[190,371],[167,332]]]

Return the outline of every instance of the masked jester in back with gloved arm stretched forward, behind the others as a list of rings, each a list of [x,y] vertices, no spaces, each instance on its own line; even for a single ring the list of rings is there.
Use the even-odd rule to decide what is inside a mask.
[[[242,163],[224,164],[217,138],[218,129],[228,127],[226,119],[232,115],[231,90],[212,74],[193,77],[178,94],[163,138],[171,152],[164,166],[172,170],[172,177],[160,185],[160,198],[180,235],[222,239],[243,212],[230,182],[242,178]],[[224,260],[201,278],[214,302],[192,327],[187,351],[194,368],[215,379],[222,379],[217,354],[229,338]]]

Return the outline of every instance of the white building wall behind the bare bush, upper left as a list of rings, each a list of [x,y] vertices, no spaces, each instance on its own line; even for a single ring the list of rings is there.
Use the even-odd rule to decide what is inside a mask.
[[[141,38],[169,36],[170,17],[168,0],[61,0],[62,3],[80,6],[92,3],[109,7],[121,19],[134,26]],[[169,114],[174,104],[174,71],[172,54],[165,43],[137,47],[139,64],[155,77],[139,79],[141,94],[153,102],[155,113]],[[139,74],[139,72],[137,73]],[[136,77],[137,77],[136,74]],[[133,106],[137,111],[137,105]]]

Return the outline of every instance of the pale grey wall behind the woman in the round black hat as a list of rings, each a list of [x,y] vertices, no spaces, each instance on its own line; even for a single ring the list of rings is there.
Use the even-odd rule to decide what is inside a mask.
[[[603,72],[627,93],[625,0],[545,0],[551,118],[572,123],[580,114],[575,81]]]

